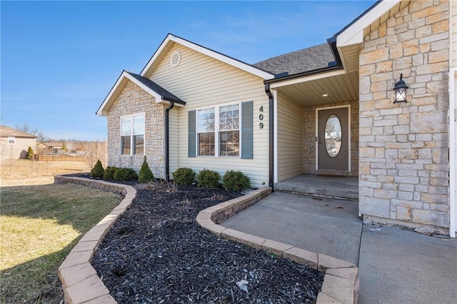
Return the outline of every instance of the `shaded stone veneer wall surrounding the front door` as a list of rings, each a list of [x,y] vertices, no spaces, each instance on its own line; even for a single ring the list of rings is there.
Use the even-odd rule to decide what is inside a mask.
[[[329,106],[344,106],[336,103]],[[303,108],[303,173],[358,176],[358,101],[351,103],[351,172],[316,171],[316,107]],[[326,106],[328,107],[328,106]]]

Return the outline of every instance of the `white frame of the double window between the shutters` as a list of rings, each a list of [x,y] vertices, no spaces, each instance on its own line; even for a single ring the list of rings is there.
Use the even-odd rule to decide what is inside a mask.
[[[233,105],[237,105],[238,106],[238,115],[239,115],[239,128],[238,128],[238,138],[239,138],[239,153],[238,153],[238,156],[221,156],[221,151],[220,151],[220,146],[219,146],[219,108],[221,108],[222,106],[233,106]],[[199,111],[201,110],[206,110],[208,108],[214,108],[214,155],[200,155],[199,154],[199,133],[209,133],[209,132],[199,132]],[[241,147],[242,147],[242,144],[241,141],[242,141],[242,136],[241,136],[241,119],[243,117],[243,113],[241,113],[241,102],[237,102],[237,103],[224,103],[224,104],[220,104],[218,106],[209,106],[207,108],[197,108],[196,109],[196,119],[195,119],[195,123],[196,123],[196,126],[195,126],[195,155],[196,157],[206,157],[206,158],[209,158],[209,157],[214,157],[214,158],[241,158]]]

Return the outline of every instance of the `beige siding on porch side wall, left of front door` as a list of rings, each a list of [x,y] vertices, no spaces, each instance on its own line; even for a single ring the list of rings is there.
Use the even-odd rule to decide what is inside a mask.
[[[278,181],[303,174],[303,108],[278,94]]]

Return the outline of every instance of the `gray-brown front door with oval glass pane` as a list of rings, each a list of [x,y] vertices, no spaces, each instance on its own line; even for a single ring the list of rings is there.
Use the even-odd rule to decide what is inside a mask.
[[[350,171],[349,107],[316,109],[318,170]]]

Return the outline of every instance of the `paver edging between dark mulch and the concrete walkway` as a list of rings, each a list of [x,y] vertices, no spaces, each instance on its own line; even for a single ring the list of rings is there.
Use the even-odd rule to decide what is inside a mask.
[[[271,188],[260,188],[245,196],[233,198],[230,201],[211,206],[201,211],[196,220],[200,226],[221,238],[227,238],[253,248],[260,248],[268,253],[281,255],[296,263],[308,265],[319,271],[325,271],[326,275],[323,278],[322,290],[318,294],[317,304],[357,303],[360,280],[356,265],[332,258],[328,255],[312,253],[302,248],[280,243],[275,240],[260,238],[219,225],[228,218],[236,215],[236,213],[268,196],[271,191]]]

